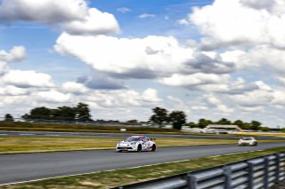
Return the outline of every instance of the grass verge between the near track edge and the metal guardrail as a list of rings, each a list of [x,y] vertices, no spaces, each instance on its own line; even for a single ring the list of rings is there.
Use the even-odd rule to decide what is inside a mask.
[[[189,161],[177,161],[161,163],[157,165],[143,166],[140,168],[117,169],[110,171],[100,171],[91,174],[84,174],[72,177],[59,177],[45,179],[37,182],[30,182],[19,185],[3,185],[3,189],[20,189],[20,188],[110,188],[119,185],[128,185],[147,181],[159,177],[169,177],[182,174],[197,169],[207,169],[218,165],[242,161],[258,156],[284,152],[285,147],[273,148],[264,151],[256,151],[242,154],[229,154],[222,156],[212,156],[192,159]],[[148,174],[146,174],[148,173]]]

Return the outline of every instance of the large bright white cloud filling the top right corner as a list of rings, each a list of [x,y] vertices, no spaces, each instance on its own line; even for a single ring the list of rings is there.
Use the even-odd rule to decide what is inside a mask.
[[[202,44],[206,48],[240,43],[265,43],[284,48],[285,9],[281,7],[284,1],[216,0],[212,5],[196,7],[188,19],[204,35]]]

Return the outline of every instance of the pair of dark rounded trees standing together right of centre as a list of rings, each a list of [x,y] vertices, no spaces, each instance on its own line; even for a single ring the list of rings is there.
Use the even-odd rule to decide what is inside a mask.
[[[181,130],[182,125],[186,123],[186,114],[182,111],[168,113],[166,108],[155,107],[152,109],[152,112],[150,121],[159,124],[160,127],[171,122],[173,129]]]

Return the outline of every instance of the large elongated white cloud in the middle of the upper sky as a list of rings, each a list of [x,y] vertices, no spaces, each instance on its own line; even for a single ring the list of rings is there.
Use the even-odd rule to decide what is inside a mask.
[[[181,69],[192,49],[174,37],[117,38],[63,33],[54,49],[77,57],[95,70],[133,78],[154,78]]]

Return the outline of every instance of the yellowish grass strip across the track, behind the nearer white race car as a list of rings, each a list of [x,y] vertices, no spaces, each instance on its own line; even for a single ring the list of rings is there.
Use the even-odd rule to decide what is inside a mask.
[[[122,138],[0,137],[0,154],[114,149]],[[234,139],[157,138],[158,146],[234,144]],[[266,140],[265,142],[270,142]]]

